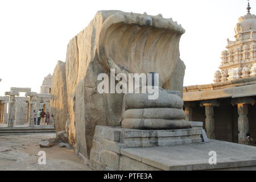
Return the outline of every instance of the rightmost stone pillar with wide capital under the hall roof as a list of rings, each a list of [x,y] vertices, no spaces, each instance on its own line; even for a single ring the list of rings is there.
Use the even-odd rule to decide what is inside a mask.
[[[237,105],[238,109],[238,143],[243,143],[246,139],[246,134],[249,131],[248,121],[248,105],[254,105],[255,100],[252,97],[233,98],[232,105]]]

